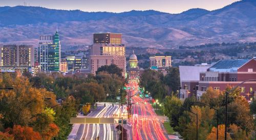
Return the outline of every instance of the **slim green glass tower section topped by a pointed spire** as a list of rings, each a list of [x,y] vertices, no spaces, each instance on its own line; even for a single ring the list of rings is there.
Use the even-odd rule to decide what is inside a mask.
[[[60,43],[59,43],[59,34],[58,30],[53,36],[53,44],[54,44],[54,71],[59,71],[60,64]]]

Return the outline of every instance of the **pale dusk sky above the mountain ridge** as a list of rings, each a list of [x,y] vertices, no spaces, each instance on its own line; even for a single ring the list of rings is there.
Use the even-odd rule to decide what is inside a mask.
[[[131,10],[156,10],[181,13],[192,8],[216,10],[237,0],[0,0],[0,6],[40,6],[50,9],[81,10],[88,12],[125,12]]]

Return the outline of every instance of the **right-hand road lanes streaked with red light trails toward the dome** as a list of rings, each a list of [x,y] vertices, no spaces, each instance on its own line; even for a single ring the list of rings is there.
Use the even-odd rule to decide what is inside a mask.
[[[130,81],[126,87],[131,87],[132,95],[138,92],[138,82]],[[132,134],[133,139],[167,139],[163,125],[157,118],[157,115],[150,102],[133,96],[134,102],[132,107]]]

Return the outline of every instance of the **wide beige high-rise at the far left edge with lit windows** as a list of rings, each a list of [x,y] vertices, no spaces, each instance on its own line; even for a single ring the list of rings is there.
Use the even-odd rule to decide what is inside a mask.
[[[34,66],[34,47],[31,45],[4,45],[0,47],[0,53],[3,70],[24,70]]]

